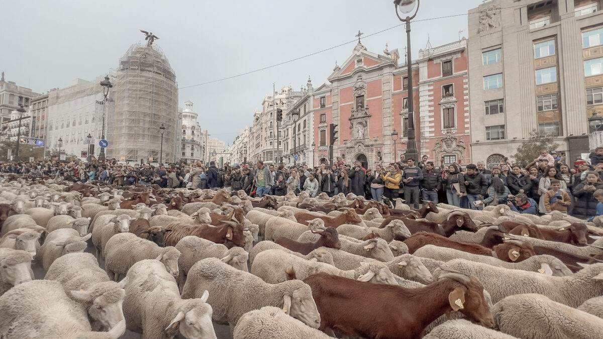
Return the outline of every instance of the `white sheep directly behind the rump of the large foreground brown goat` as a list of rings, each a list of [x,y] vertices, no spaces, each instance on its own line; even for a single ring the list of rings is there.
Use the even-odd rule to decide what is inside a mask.
[[[268,284],[280,284],[288,280],[289,268],[295,271],[295,279],[306,279],[314,273],[325,272],[336,276],[368,281],[373,284],[397,285],[394,274],[382,263],[362,262],[354,270],[339,270],[333,265],[302,259],[295,255],[283,253],[280,250],[267,250],[256,256],[251,273],[262,278]]]

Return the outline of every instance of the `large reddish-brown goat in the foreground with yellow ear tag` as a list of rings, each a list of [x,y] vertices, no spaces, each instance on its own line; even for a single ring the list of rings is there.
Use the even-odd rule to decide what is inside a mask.
[[[422,288],[370,284],[326,273],[303,280],[320,312],[320,328],[350,337],[411,339],[440,315],[459,311],[485,327],[494,320],[475,277],[446,273]]]

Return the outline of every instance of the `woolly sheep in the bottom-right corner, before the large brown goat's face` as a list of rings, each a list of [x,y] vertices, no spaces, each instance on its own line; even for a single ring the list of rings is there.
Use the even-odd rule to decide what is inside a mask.
[[[595,338],[603,334],[603,319],[541,294],[516,294],[492,309],[500,329],[520,338]]]

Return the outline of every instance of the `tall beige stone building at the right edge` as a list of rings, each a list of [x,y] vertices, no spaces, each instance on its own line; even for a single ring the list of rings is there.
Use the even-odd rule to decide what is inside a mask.
[[[576,159],[603,108],[599,0],[493,0],[469,11],[473,160],[497,165],[531,131]]]

